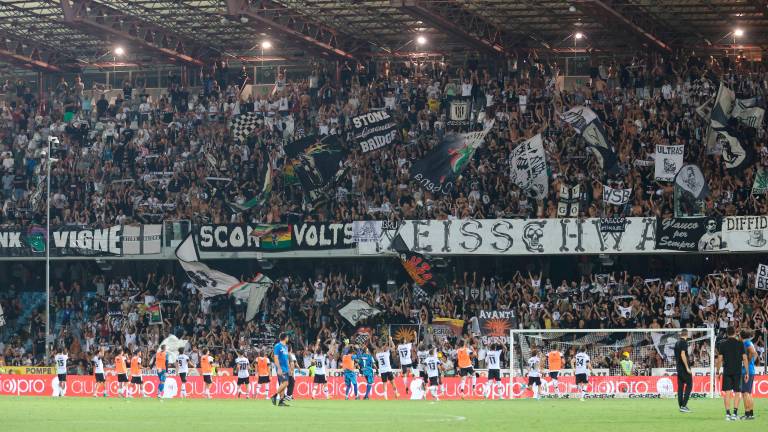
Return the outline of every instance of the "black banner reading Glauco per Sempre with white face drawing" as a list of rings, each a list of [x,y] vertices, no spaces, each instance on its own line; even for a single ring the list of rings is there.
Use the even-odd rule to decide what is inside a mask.
[[[719,251],[726,246],[717,218],[671,218],[658,221],[656,249]]]

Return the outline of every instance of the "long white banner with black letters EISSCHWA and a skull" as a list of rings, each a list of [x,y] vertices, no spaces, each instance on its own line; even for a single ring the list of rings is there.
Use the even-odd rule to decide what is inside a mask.
[[[358,244],[361,255],[390,250],[395,230]],[[656,219],[626,218],[624,232],[601,232],[599,218],[411,220],[399,229],[408,248],[430,255],[654,253]]]

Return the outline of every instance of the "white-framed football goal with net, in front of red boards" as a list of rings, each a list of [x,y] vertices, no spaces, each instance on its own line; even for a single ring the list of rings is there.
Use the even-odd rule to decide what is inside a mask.
[[[584,350],[591,359],[587,386],[593,398],[660,398],[677,392],[674,346],[682,329],[530,329],[510,331],[509,394],[525,397],[528,360],[540,359],[541,396],[573,397],[577,392],[571,359]],[[688,358],[694,375],[692,397],[715,396],[715,330],[687,329]],[[562,354],[554,380],[549,353]],[[622,362],[623,360],[623,362]]]

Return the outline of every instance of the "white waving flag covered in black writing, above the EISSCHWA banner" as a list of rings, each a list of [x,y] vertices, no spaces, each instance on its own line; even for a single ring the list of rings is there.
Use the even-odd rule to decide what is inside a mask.
[[[542,199],[549,193],[547,157],[541,135],[522,142],[509,155],[510,178],[529,196]]]

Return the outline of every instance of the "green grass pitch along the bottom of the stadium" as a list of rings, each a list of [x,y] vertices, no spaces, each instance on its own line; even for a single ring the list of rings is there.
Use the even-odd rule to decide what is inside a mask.
[[[264,400],[121,400],[0,397],[3,431],[759,431],[757,420],[726,423],[721,400],[692,400],[691,414],[674,400],[295,401],[277,408]]]

